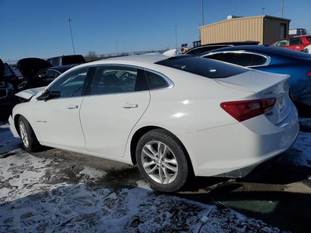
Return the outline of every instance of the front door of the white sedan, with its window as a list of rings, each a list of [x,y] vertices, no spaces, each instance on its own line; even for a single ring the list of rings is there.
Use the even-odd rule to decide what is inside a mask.
[[[34,118],[42,143],[54,147],[86,150],[79,111],[86,90],[89,67],[67,73],[49,87],[59,98],[37,100]]]

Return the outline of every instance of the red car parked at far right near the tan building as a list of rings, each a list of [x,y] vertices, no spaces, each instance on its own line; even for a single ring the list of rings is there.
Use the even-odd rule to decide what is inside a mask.
[[[290,38],[279,39],[276,42],[274,42],[271,46],[302,51],[306,46],[310,44],[311,44],[311,35],[300,35]]]

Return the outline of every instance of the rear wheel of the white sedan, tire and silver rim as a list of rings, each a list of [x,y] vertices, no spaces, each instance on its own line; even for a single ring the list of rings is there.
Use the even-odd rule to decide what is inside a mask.
[[[145,133],[138,141],[136,159],[143,177],[159,191],[174,192],[187,182],[190,171],[187,152],[166,130]]]

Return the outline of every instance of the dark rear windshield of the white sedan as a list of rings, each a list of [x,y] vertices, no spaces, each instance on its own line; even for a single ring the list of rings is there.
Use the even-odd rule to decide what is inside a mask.
[[[192,56],[171,57],[169,59],[156,62],[155,64],[184,70],[192,74],[201,75],[211,79],[227,78],[248,71],[248,69],[243,67],[229,65],[212,59]]]

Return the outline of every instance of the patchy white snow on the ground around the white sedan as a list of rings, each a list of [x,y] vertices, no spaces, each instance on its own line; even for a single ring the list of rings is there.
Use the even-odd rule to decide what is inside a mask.
[[[157,193],[144,180],[116,190],[103,183],[106,171],[84,165],[68,172],[61,156],[17,149],[7,124],[0,139],[2,151],[13,150],[0,154],[0,232],[279,232],[222,205]],[[311,133],[300,133],[287,162],[311,166],[310,145]]]

